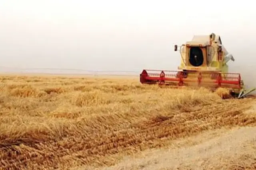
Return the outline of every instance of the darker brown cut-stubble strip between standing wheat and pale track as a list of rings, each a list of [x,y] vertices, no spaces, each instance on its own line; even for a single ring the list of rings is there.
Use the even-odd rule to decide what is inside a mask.
[[[113,165],[108,156],[122,152],[134,152],[150,147],[164,146],[166,141],[191,136],[208,129],[245,126],[256,123],[256,117],[242,111],[249,100],[229,100],[222,104],[203,106],[191,112],[182,112],[169,117],[161,115],[147,121],[131,123],[126,129],[104,134],[81,133],[60,141],[26,144],[0,148],[1,169],[61,168],[83,165]],[[101,132],[101,133],[100,133]],[[33,146],[33,147],[31,147]],[[13,160],[13,158],[16,158]]]

